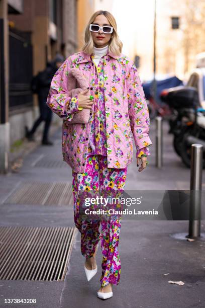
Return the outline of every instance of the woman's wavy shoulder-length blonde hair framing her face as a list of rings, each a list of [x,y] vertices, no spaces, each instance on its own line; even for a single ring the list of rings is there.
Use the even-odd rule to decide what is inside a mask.
[[[89,31],[89,25],[94,22],[95,18],[98,15],[104,15],[108,19],[111,26],[113,27],[112,38],[109,42],[109,52],[112,52],[115,55],[120,56],[122,52],[122,48],[123,48],[123,43],[121,42],[118,36],[116,20],[114,16],[108,11],[97,11],[91,16],[85,28],[85,36],[84,36],[85,44],[81,48],[81,51],[88,53],[88,54],[91,54],[93,52],[92,49],[93,49],[94,43],[92,40],[91,33]]]

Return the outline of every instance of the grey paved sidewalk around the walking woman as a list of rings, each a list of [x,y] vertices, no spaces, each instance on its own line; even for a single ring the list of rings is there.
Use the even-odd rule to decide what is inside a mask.
[[[183,166],[173,151],[172,136],[167,134],[166,123],[163,131],[163,168],[155,168],[153,122],[150,127],[153,145],[150,147],[149,166],[143,172],[138,172],[134,151],[133,162],[128,167],[126,190],[189,189],[190,170]],[[28,183],[40,184],[37,187],[42,189],[45,183],[71,184],[71,169],[62,162],[61,129],[56,131],[53,138],[54,146],[39,146],[24,158],[19,173],[0,175],[0,226],[74,226],[72,204],[48,206],[46,202],[44,205],[36,205],[35,202],[7,202],[18,187]],[[37,303],[33,306],[39,308],[80,308],[82,305],[109,308],[202,308],[205,306],[205,243],[203,240],[188,242],[173,237],[187,232],[188,221],[123,220],[119,245],[121,281],[119,286],[114,286],[114,296],[108,301],[96,297],[100,277],[100,250],[97,253],[99,271],[88,283],[83,269],[84,258],[80,253],[80,234],[77,233],[64,281],[0,280],[0,306],[6,306],[4,298],[36,298]],[[204,233],[203,221],[201,233]],[[181,280],[184,285],[171,284],[169,280]]]

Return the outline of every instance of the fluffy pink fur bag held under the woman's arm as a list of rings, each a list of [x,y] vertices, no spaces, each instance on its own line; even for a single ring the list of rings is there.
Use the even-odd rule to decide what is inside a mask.
[[[79,86],[79,88],[78,88]],[[89,87],[88,81],[85,79],[84,75],[80,72],[78,68],[71,68],[68,73],[68,95],[70,97],[76,96],[80,92],[84,91]],[[87,92],[90,96],[90,90]],[[83,108],[74,114],[71,121],[67,121],[67,124],[86,124],[89,121],[91,109]]]

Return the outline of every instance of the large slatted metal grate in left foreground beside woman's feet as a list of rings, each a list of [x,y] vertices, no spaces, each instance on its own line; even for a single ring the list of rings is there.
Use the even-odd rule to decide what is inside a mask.
[[[0,279],[62,281],[76,227],[0,227]]]

